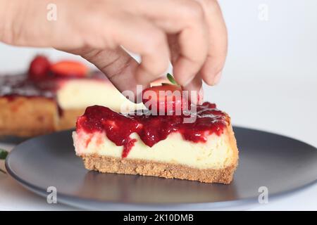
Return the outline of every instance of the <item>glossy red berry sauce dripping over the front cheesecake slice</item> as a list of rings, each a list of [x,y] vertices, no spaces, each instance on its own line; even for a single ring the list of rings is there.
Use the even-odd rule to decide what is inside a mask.
[[[196,120],[186,123],[185,119],[189,117]],[[204,143],[211,134],[220,136],[228,122],[228,115],[216,109],[215,104],[208,102],[197,105],[197,113],[190,115],[123,115],[94,105],[88,107],[85,114],[77,120],[77,131],[105,131],[108,139],[116,146],[123,146],[122,157],[125,158],[136,141],[130,138],[132,133],[139,134],[140,139],[149,147],[176,131],[187,141]]]

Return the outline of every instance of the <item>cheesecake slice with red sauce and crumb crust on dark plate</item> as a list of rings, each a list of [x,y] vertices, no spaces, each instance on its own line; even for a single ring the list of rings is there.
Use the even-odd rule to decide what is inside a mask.
[[[78,118],[73,141],[86,169],[99,172],[230,184],[238,162],[230,117],[208,102],[195,113],[156,116],[94,105]]]

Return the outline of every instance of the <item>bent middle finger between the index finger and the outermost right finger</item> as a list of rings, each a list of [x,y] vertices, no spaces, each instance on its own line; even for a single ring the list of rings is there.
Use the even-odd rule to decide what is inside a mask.
[[[179,84],[186,86],[204,65],[209,49],[209,34],[201,5],[193,0],[139,1],[143,8],[140,7],[138,13],[144,13],[165,32],[178,34],[179,53],[173,63],[173,74]]]

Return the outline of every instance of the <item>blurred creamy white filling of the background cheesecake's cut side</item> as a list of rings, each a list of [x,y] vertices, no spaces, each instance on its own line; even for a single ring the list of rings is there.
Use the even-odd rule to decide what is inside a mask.
[[[120,94],[110,82],[104,80],[73,79],[65,82],[56,91],[58,105],[62,109],[87,108],[90,105],[106,105],[120,113],[144,108]]]

